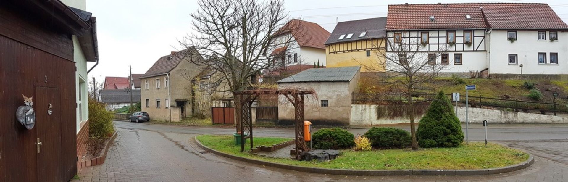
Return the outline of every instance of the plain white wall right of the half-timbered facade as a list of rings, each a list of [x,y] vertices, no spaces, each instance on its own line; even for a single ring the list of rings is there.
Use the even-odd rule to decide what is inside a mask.
[[[558,40],[550,42],[549,31],[546,40],[538,40],[538,31],[517,31],[517,40],[507,40],[506,30],[491,31],[489,50],[489,73],[520,74],[568,74],[568,32],[558,31]],[[538,63],[538,52],[545,52],[547,64]],[[558,64],[550,63],[550,52],[558,53]],[[517,55],[517,64],[508,63],[508,55]]]

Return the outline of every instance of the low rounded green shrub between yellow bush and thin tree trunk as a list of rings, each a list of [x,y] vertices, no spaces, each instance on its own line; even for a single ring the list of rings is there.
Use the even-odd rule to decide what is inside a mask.
[[[394,127],[371,127],[364,136],[375,148],[405,148],[412,140],[408,131]]]

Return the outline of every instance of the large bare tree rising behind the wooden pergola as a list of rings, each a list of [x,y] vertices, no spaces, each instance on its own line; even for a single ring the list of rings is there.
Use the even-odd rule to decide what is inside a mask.
[[[275,38],[299,26],[286,26],[288,14],[282,0],[200,0],[199,10],[191,14],[194,34],[180,41],[182,47],[195,47],[204,59],[188,60],[220,74],[210,84],[225,82],[226,90],[250,88],[255,75],[275,67],[270,52],[279,47],[290,49],[292,36]],[[284,28],[282,28],[284,27]],[[240,98],[235,97],[235,112],[241,113]],[[239,132],[240,118],[237,118]]]

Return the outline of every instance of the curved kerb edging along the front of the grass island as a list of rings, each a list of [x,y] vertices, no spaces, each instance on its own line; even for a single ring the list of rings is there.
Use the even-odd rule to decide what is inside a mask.
[[[501,168],[489,168],[489,169],[466,169],[466,170],[446,170],[446,169],[401,169],[401,170],[357,170],[357,169],[328,169],[328,168],[311,168],[311,167],[301,167],[301,166],[291,166],[288,164],[279,164],[273,162],[266,162],[262,160],[243,158],[240,156],[235,156],[231,154],[226,154],[224,152],[216,151],[212,148],[204,146],[197,136],[194,138],[197,145],[203,150],[214,153],[216,155],[224,156],[225,158],[240,160],[243,162],[258,164],[262,166],[269,166],[275,168],[289,169],[301,172],[312,172],[321,173],[329,175],[353,175],[353,176],[471,176],[471,175],[494,175],[498,173],[512,172],[520,169],[527,168],[534,163],[534,158],[532,154],[529,154],[529,158],[525,162],[519,164],[513,164],[511,166],[501,167]]]

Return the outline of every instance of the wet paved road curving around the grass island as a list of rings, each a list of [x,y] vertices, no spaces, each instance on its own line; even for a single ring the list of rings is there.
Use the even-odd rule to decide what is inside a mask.
[[[233,129],[115,122],[119,133],[102,166],[82,169],[76,181],[568,181],[568,125],[494,125],[489,137],[536,155],[533,166],[486,176],[335,176],[289,171],[223,158],[190,138]],[[366,129],[351,129],[364,133]],[[257,129],[257,136],[291,137],[291,129]],[[518,139],[515,139],[518,138]],[[471,140],[483,130],[470,130]]]

